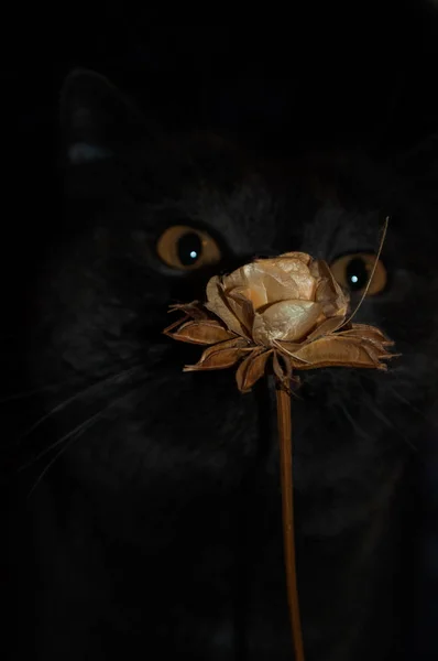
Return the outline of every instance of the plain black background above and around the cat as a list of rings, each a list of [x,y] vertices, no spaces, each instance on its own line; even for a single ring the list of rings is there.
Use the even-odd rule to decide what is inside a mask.
[[[219,20],[219,8],[210,10]],[[4,640],[8,632],[12,642],[25,635],[26,608],[15,604],[15,586],[25,594],[31,573],[26,492],[15,479],[23,457],[13,429],[25,407],[9,398],[25,389],[14,358],[28,321],[23,293],[59,219],[57,105],[68,72],[105,74],[165,128],[212,128],[270,155],[363,148],[387,158],[438,130],[438,10],[431,3],[307,2],[285,6],[278,14],[265,7],[241,11],[239,23],[233,15],[223,24],[167,25],[152,24],[146,10],[130,14],[118,8],[111,15],[107,9],[98,19],[76,17],[66,7],[63,18],[24,11],[3,23],[10,43],[0,46],[0,336],[9,371],[0,402],[6,487],[0,534],[8,540],[0,550],[6,553],[0,589],[12,621]],[[435,618],[430,607],[437,597],[432,579],[425,584],[429,592],[417,617],[424,653],[413,659],[438,658],[432,652],[438,611]]]

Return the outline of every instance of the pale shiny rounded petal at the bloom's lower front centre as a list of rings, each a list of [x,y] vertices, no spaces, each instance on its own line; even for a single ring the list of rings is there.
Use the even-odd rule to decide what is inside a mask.
[[[297,342],[316,324],[321,308],[311,301],[282,301],[255,313],[252,329],[256,344],[272,346],[274,339]]]

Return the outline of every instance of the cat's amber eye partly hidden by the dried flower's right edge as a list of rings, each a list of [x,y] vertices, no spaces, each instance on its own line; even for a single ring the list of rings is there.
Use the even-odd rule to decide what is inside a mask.
[[[370,279],[374,261],[375,254],[358,252],[339,257],[331,263],[330,269],[341,286],[351,292],[362,292]],[[366,295],[372,296],[382,292],[386,286],[386,269],[379,260]]]

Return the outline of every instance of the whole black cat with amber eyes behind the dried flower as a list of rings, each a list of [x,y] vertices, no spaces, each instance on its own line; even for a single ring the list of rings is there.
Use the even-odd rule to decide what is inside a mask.
[[[85,72],[62,120],[66,213],[26,357],[34,388],[57,384],[26,441],[52,446],[31,498],[33,657],[293,658],[272,387],[242,395],[232,370],[183,373],[200,351],[162,330],[212,273],[288,250],[331,263],[354,305],[390,216],[357,321],[401,357],[387,373],[306,372],[293,429],[306,658],[398,659],[409,468],[436,395],[430,153],[314,159],[297,175],[218,138],[162,136]]]

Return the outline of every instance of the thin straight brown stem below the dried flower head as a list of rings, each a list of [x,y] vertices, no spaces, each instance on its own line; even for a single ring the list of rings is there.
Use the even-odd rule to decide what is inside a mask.
[[[298,588],[296,581],[295,531],[294,531],[294,490],[292,479],[292,415],[291,394],[282,384],[276,384],[277,421],[280,440],[280,473],[283,503],[283,540],[286,567],[287,602],[295,661],[305,661],[303,632],[299,616]]]

